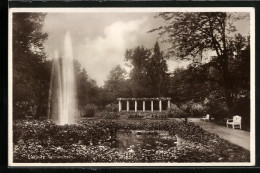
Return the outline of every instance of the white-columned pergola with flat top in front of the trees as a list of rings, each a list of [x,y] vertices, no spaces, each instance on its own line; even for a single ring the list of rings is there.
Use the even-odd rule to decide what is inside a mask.
[[[119,112],[122,111],[122,101],[126,101],[126,111],[129,112],[129,101],[135,102],[135,112],[137,112],[137,101],[143,101],[143,112],[146,111],[145,109],[145,102],[151,101],[151,112],[154,111],[153,109],[153,102],[159,101],[159,112],[162,112],[162,101],[167,101],[167,108],[169,109],[171,106],[171,98],[170,97],[158,97],[158,98],[117,98],[118,100],[118,110]]]

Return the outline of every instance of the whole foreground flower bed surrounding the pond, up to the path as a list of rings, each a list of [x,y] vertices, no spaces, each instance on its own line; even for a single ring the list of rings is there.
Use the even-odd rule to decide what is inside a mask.
[[[115,148],[118,130],[167,130],[177,147]],[[193,123],[172,121],[80,121],[58,126],[24,120],[13,125],[14,162],[249,162],[249,151]],[[133,152],[134,151],[134,152]]]

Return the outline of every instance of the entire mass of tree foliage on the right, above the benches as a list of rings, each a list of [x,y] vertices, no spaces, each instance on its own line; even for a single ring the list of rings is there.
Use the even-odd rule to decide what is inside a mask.
[[[171,44],[169,55],[174,59],[193,61],[193,65],[187,70],[178,72],[187,75],[184,80],[175,77],[188,90],[179,99],[190,99],[186,97],[189,94],[198,94],[197,97],[204,99],[217,90],[228,111],[233,113],[231,110],[237,97],[249,94],[250,83],[249,38],[235,33],[233,22],[248,16],[225,12],[180,12],[160,13],[157,17],[167,22],[151,32],[159,31],[160,35],[165,36],[165,41]],[[216,56],[206,65],[201,65],[203,53],[207,51],[215,52]],[[173,86],[176,85],[174,81],[172,83]],[[180,83],[173,92],[179,92],[178,85]]]

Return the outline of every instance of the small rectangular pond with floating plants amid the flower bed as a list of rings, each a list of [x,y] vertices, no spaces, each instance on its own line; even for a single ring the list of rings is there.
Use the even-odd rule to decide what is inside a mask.
[[[119,152],[125,152],[135,148],[147,150],[167,150],[177,145],[177,137],[168,131],[146,131],[146,130],[120,130],[117,133]]]

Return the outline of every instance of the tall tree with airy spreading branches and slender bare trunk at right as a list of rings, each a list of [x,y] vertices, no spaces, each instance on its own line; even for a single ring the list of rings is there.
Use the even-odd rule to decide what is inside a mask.
[[[222,74],[226,103],[229,108],[233,103],[233,84],[229,71],[230,49],[229,32],[235,31],[234,18],[230,13],[160,13],[167,24],[151,30],[159,30],[160,35],[167,35],[166,42],[171,43],[169,54],[176,59],[191,60],[205,50],[217,54],[217,65]]]

